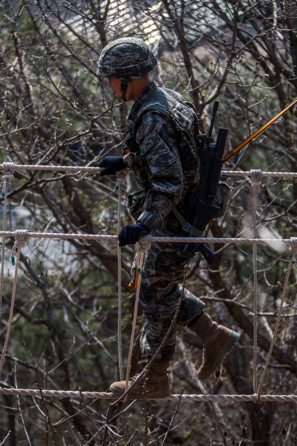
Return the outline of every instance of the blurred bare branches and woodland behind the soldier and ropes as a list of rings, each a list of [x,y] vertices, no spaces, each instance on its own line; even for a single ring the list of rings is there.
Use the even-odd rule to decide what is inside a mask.
[[[200,130],[208,132],[219,100],[213,137],[228,128],[229,152],[297,96],[297,5],[260,0],[4,0],[0,4],[0,162],[96,166],[120,155],[131,103],[118,103],[106,79],[96,75],[103,47],[119,37],[143,38],[159,58],[151,78],[194,103]],[[292,107],[223,170],[297,172],[297,113]],[[252,182],[228,178],[232,187],[224,217],[208,236],[251,237]],[[117,234],[116,178],[98,174],[17,170],[9,183],[7,230]],[[122,224],[133,223],[122,193]],[[3,214],[3,198],[0,203]],[[262,178],[257,236],[297,234],[294,178]],[[7,239],[0,348],[14,274]],[[195,376],[202,343],[178,328],[171,393],[253,394],[252,244],[215,244],[210,267],[191,261],[187,287],[207,313],[240,332],[222,375],[203,384]],[[130,343],[134,289],[128,287],[136,246],[122,248],[123,359]],[[288,247],[257,248],[260,380],[280,305]],[[12,331],[0,385],[106,391],[119,379],[117,345],[117,246],[114,242],[29,239],[22,249]],[[285,306],[267,372],[265,394],[296,394],[297,269],[289,278]],[[144,319],[138,309],[131,376],[146,359],[139,349]],[[38,398],[2,396],[0,442],[101,445],[108,401],[48,398],[50,422]],[[176,403],[121,403],[114,409],[107,444],[160,446]],[[166,445],[296,445],[296,403],[183,403]],[[93,421],[92,419],[93,418]],[[129,427],[126,427],[126,424]],[[95,427],[97,425],[97,428]],[[246,432],[242,428],[246,426]],[[53,434],[56,432],[56,434]],[[102,432],[102,430],[101,430]],[[126,432],[126,433],[125,433]],[[227,433],[227,434],[226,434]],[[118,443],[117,443],[118,442]],[[3,443],[1,443],[3,444]]]

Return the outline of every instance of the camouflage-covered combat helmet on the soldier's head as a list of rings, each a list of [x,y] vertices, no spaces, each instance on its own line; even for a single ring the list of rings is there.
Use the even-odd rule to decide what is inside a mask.
[[[155,54],[143,40],[122,37],[103,48],[97,74],[131,82],[149,73],[156,65]]]

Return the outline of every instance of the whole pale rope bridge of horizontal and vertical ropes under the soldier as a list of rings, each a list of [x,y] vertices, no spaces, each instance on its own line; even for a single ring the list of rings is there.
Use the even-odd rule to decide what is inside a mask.
[[[50,239],[63,239],[63,240],[106,240],[106,241],[118,241],[117,235],[95,235],[95,234],[63,234],[63,233],[46,233],[46,232],[28,232],[27,230],[16,230],[16,231],[6,231],[6,213],[7,213],[7,193],[8,193],[8,181],[13,178],[13,173],[15,169],[26,169],[26,170],[48,170],[48,171],[63,171],[63,172],[72,172],[72,173],[99,173],[101,172],[101,168],[98,167],[77,167],[77,166],[57,166],[57,165],[14,165],[13,163],[3,163],[0,164],[0,168],[2,168],[4,173],[4,185],[2,189],[2,198],[4,198],[4,211],[3,211],[3,231],[0,231],[0,235],[3,237],[2,242],[2,252],[1,252],[1,273],[0,273],[0,314],[1,314],[1,301],[2,301],[2,291],[3,291],[3,277],[4,277],[4,252],[5,252],[5,238],[6,237],[15,237],[15,243],[12,248],[12,264],[15,265],[15,275],[12,287],[12,300],[8,318],[8,326],[7,332],[4,342],[4,347],[2,350],[1,358],[0,358],[0,374],[2,371],[4,357],[8,346],[8,339],[12,324],[12,314],[13,314],[13,306],[16,294],[16,280],[18,273],[18,266],[20,260],[20,250],[26,244],[28,238],[50,238]],[[121,218],[121,201],[122,201],[122,185],[126,181],[127,169],[124,169],[120,172],[117,172],[117,186],[115,190],[118,190],[118,231],[120,230],[120,218]],[[136,267],[138,268],[138,274],[142,272],[142,264],[145,252],[150,248],[151,243],[165,242],[165,243],[173,243],[173,242],[185,242],[185,243],[232,243],[232,244],[253,244],[253,263],[254,263],[254,347],[253,347],[253,387],[254,394],[253,395],[170,395],[164,398],[153,398],[156,401],[159,400],[167,400],[167,401],[178,401],[183,400],[187,402],[194,401],[253,401],[254,403],[261,403],[264,401],[275,401],[275,402],[297,402],[296,395],[261,395],[261,389],[264,382],[264,377],[266,375],[269,361],[271,358],[273,345],[277,336],[277,329],[281,320],[281,312],[284,304],[285,293],[288,285],[289,274],[292,266],[293,257],[297,252],[297,237],[291,237],[291,239],[258,239],[256,238],[256,199],[260,195],[260,185],[262,177],[279,177],[279,178],[297,178],[297,173],[291,172],[261,172],[260,170],[251,170],[248,171],[224,171],[223,172],[227,176],[249,176],[252,180],[252,188],[253,188],[253,231],[254,238],[216,238],[216,237],[152,237],[151,235],[146,235],[140,237],[139,245],[140,249],[138,252],[138,256],[136,259]],[[290,253],[289,253],[289,264],[287,268],[287,273],[285,277],[285,284],[281,296],[281,304],[279,307],[277,321],[273,333],[273,339],[271,341],[269,353],[266,359],[266,363],[264,366],[264,370],[260,379],[259,386],[256,381],[256,346],[257,346],[257,277],[256,277],[256,246],[258,244],[268,244],[277,242],[288,245]],[[15,252],[16,260],[15,260]],[[122,345],[121,345],[121,309],[122,309],[122,292],[121,292],[121,249],[118,248],[118,358],[119,358],[119,371],[120,378],[123,380],[123,371],[122,371]],[[138,286],[136,291],[136,299],[135,299],[135,308],[134,308],[134,317],[132,324],[132,335],[130,340],[130,350],[127,361],[127,369],[126,369],[126,392],[125,399],[127,396],[126,393],[129,393],[128,390],[128,382],[130,376],[130,365],[132,358],[132,347],[134,343],[134,331],[136,325],[136,316],[137,316],[137,308],[138,308],[138,299],[139,299],[139,291],[140,291],[140,280],[138,280]],[[159,349],[161,346],[159,347]],[[158,351],[157,351],[158,353]],[[157,355],[156,353],[156,355]],[[152,359],[154,360],[154,358]],[[148,367],[148,366],[147,366]],[[147,368],[146,367],[146,368]],[[143,372],[144,373],[144,372]],[[140,376],[139,376],[140,378]],[[42,393],[42,395],[41,395]],[[69,398],[77,398],[81,397],[81,395],[85,398],[104,398],[104,399],[116,399],[116,397],[112,393],[108,392],[76,392],[76,391],[62,391],[62,390],[33,390],[33,389],[21,389],[21,388],[0,388],[0,396],[2,395],[13,395],[13,396],[48,396],[48,397],[69,397]],[[150,399],[150,398],[147,398]],[[121,400],[121,398],[120,398]],[[120,401],[119,400],[119,401]]]

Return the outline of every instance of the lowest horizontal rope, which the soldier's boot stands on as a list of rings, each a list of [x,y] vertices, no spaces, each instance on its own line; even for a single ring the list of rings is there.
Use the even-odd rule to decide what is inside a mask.
[[[12,396],[41,396],[39,390],[33,389],[15,389],[15,388],[2,388],[0,389],[0,395],[12,395]],[[116,400],[117,397],[110,392],[78,392],[71,390],[42,390],[43,396],[48,397],[64,397],[64,398],[81,398],[81,394],[84,398],[100,398],[106,400]],[[182,395],[182,401],[255,401],[255,395]],[[133,398],[132,398],[133,399]],[[163,398],[148,398],[155,401],[178,401],[180,395],[169,395]],[[297,402],[297,395],[261,395],[261,402],[276,401],[276,402]]]

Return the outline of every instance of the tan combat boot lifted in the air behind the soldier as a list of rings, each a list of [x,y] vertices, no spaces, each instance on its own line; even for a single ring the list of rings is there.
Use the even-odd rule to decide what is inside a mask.
[[[202,364],[197,375],[200,380],[205,380],[207,376],[216,371],[227,353],[232,350],[239,334],[213,322],[206,313],[201,314],[189,328],[195,331],[204,345]]]

